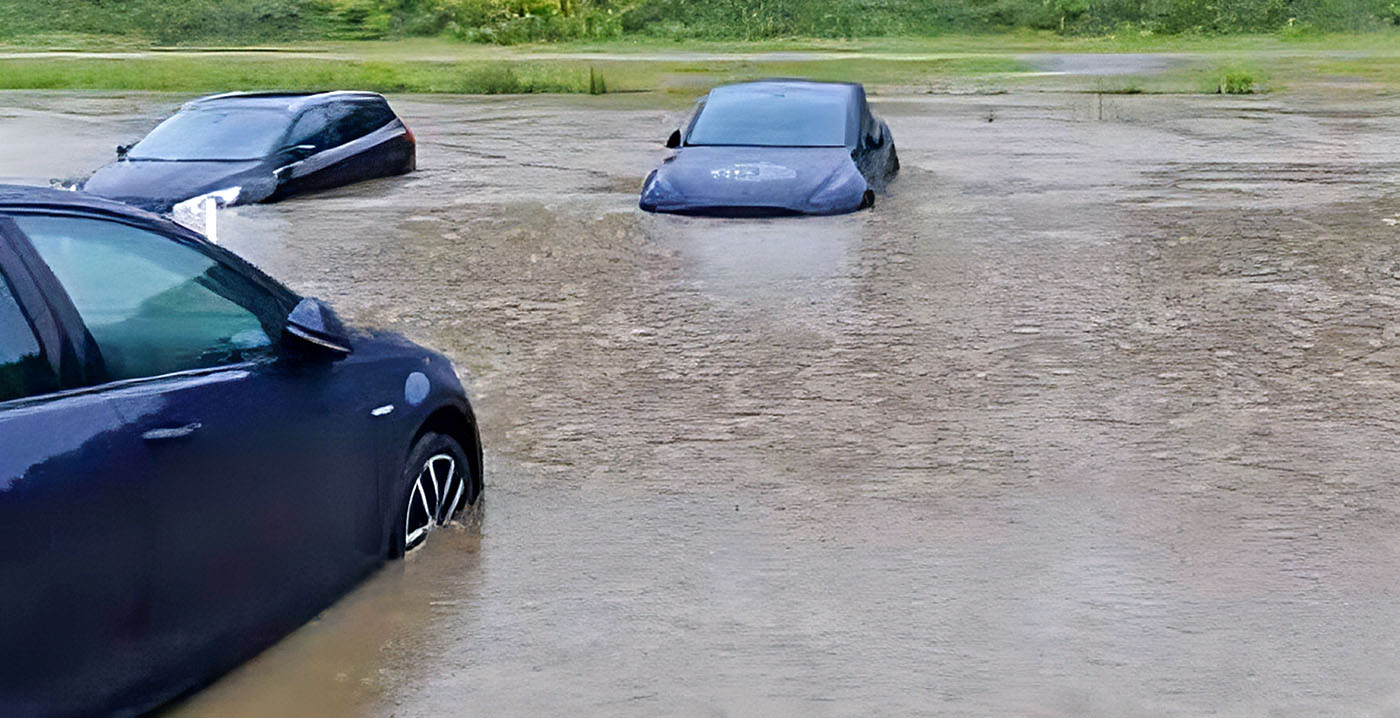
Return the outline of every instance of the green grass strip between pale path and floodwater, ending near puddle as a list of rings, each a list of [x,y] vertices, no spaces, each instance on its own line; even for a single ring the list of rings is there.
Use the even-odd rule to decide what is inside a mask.
[[[874,57],[813,62],[609,60],[469,57],[416,60],[382,50],[364,59],[281,53],[140,55],[132,57],[38,56],[0,59],[3,90],[337,90],[379,92],[690,92],[759,77],[809,77],[914,85],[1012,76],[1026,64],[1007,56],[889,62]],[[696,90],[697,91],[697,90]]]

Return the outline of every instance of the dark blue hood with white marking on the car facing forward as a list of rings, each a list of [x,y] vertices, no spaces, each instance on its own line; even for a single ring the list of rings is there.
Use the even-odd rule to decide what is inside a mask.
[[[865,202],[844,147],[683,147],[647,178],[648,211],[836,214]]]

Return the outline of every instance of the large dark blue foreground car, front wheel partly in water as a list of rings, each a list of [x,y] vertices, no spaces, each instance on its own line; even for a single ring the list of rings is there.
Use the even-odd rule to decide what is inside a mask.
[[[0,715],[127,715],[482,491],[447,358],[162,217],[0,186]]]

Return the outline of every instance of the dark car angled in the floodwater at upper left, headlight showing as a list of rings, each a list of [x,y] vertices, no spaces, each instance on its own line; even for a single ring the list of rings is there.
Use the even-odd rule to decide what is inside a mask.
[[[195,99],[81,189],[151,211],[203,196],[279,200],[416,167],[416,140],[374,92],[231,92]]]

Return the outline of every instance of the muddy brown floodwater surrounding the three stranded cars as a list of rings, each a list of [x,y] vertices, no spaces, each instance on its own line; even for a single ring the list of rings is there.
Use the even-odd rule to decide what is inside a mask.
[[[6,98],[29,179],[179,101]],[[458,362],[487,494],[171,712],[1400,711],[1400,98],[875,99],[848,217],[640,213],[652,95],[395,98],[419,172],[230,211]]]

